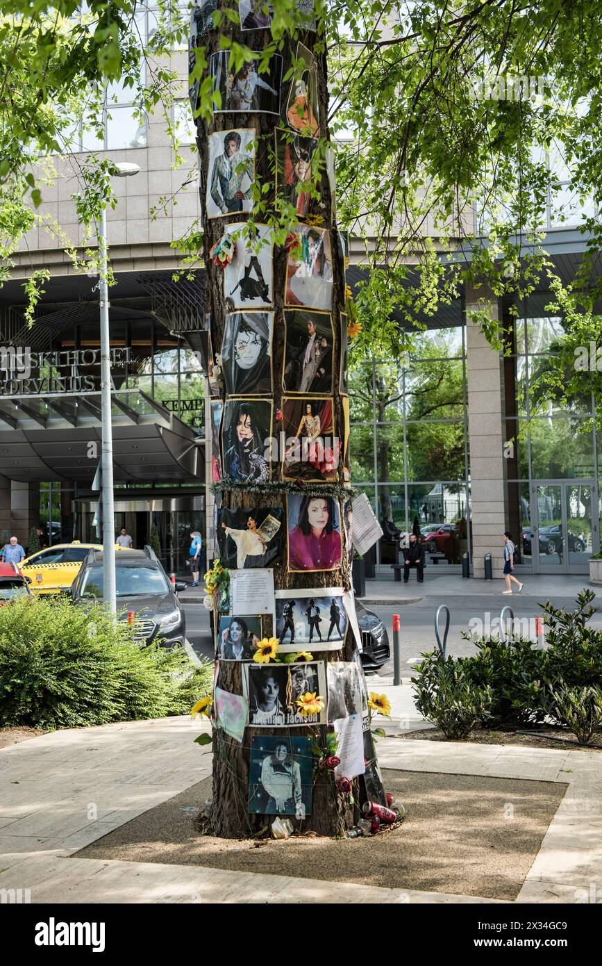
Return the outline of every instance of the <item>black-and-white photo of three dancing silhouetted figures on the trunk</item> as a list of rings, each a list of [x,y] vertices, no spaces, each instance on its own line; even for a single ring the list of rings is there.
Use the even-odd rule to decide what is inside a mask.
[[[302,650],[336,651],[342,647],[347,613],[342,587],[277,590],[276,634],[284,654]]]

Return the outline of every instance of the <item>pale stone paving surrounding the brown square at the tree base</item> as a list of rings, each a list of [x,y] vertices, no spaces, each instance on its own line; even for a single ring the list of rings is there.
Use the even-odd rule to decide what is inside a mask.
[[[517,902],[575,902],[602,876],[602,757],[585,752],[399,741],[421,726],[411,689],[379,682],[393,702],[381,767],[561,781],[561,801]],[[423,725],[424,726],[424,725]],[[332,901],[330,882],[209,867],[69,858],[84,845],[210,775],[211,753],[194,744],[209,725],[189,718],[56,731],[0,751],[0,889],[31,901]],[[337,883],[343,903],[490,902],[479,896]],[[579,899],[583,901],[582,899]]]

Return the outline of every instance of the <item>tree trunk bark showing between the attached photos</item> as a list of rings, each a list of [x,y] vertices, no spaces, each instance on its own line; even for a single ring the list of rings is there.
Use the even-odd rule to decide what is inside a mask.
[[[224,7],[223,2],[219,2],[219,7]],[[269,30],[255,30],[253,32],[242,32],[224,18],[222,32],[226,33],[237,43],[248,44],[253,50],[262,50],[271,41]],[[219,47],[220,31],[213,30],[205,37],[207,50],[207,60],[210,64],[210,53]],[[282,51],[283,71],[285,76],[291,66],[291,56],[296,51],[297,43],[304,43],[306,47],[312,49],[316,41],[313,32],[301,33],[292,41],[284,44]],[[203,43],[203,42],[202,42]],[[328,91],[326,85],[326,55],[325,52],[316,53],[317,64],[317,96],[320,119],[320,136],[327,137],[325,118],[327,117]],[[261,75],[260,75],[261,76]],[[265,75],[264,75],[265,76]],[[287,102],[287,95],[290,81],[282,84],[281,87],[281,117],[286,120],[284,111]],[[284,127],[283,121],[276,116],[266,113],[215,113],[210,124],[206,124],[201,119],[197,121],[198,147],[200,153],[200,191],[201,204],[204,213],[203,227],[203,255],[206,272],[205,285],[205,312],[210,314],[211,341],[214,352],[219,352],[224,335],[224,327],[227,313],[226,299],[224,296],[224,270],[215,266],[209,257],[212,246],[220,240],[229,223],[246,221],[247,214],[236,213],[228,214],[224,217],[207,217],[205,207],[206,185],[210,178],[208,170],[208,136],[215,131],[224,133],[235,128],[254,128],[256,132],[256,185],[270,185],[266,194],[262,195],[262,203],[267,205],[267,213],[263,210],[257,217],[258,223],[268,221],[270,209],[274,205],[275,172],[273,161],[274,129]],[[333,212],[331,189],[326,172],[318,185],[321,198],[321,209],[324,212]],[[333,216],[334,217],[334,216]],[[342,331],[344,324],[342,312],[344,310],[345,286],[344,286],[344,264],[342,259],[342,243],[339,237],[336,224],[330,215],[324,218],[323,223],[318,227],[328,229],[330,233],[331,255],[333,262],[333,304],[332,320],[334,328],[334,402],[333,412],[335,418],[335,436],[342,439],[343,410],[342,395],[340,393],[339,372],[342,355]],[[303,222],[300,216],[299,221]],[[284,327],[284,301],[286,290],[287,274],[287,250],[284,245],[275,245],[272,253],[273,265],[273,302],[270,308],[265,311],[274,312],[274,327],[272,341],[272,365],[273,365],[273,394],[265,395],[263,398],[273,401],[273,412],[276,413],[282,406],[283,393],[283,363],[285,355],[285,327]],[[237,309],[237,311],[245,311]],[[329,395],[329,393],[326,393]],[[226,399],[227,397],[224,396]],[[273,424],[276,428],[274,435],[279,436],[279,426],[277,422]],[[343,440],[342,440],[343,442]],[[342,445],[343,450],[343,445]],[[282,453],[279,449],[279,457]],[[222,467],[224,467],[224,452],[222,450]],[[336,485],[330,490],[324,489],[323,492],[337,493],[342,492],[343,471],[342,462],[337,469]],[[289,486],[289,485],[288,485]],[[325,484],[312,484],[312,491],[320,491],[325,488]],[[287,485],[282,478],[282,469],[279,461],[272,462],[271,482],[262,488],[263,492],[258,492],[261,484],[254,484],[254,492],[249,492],[244,486],[231,486],[228,489],[227,481],[221,492],[222,509],[234,508],[258,508],[273,507],[284,509],[283,526],[286,524]],[[307,490],[308,487],[303,481],[298,483],[299,490]],[[219,497],[216,495],[216,499]],[[339,496],[335,496],[335,499]],[[339,498],[341,524],[342,499]],[[343,531],[343,526],[341,526]],[[334,571],[322,571],[314,573],[291,573],[287,568],[287,540],[284,541],[284,558],[274,565],[274,583],[276,588],[302,588],[316,586],[342,586],[349,589],[351,586],[351,572],[346,547],[343,546],[342,566]],[[265,631],[263,632],[265,633]],[[268,632],[267,637],[271,634]],[[312,652],[317,660],[352,660],[356,645],[347,621],[347,630],[344,646],[340,651],[319,652],[314,644],[310,645]],[[219,687],[233,692],[242,693],[242,664],[235,661],[221,661],[219,668]],[[326,695],[322,695],[326,700]],[[269,727],[249,727],[245,729],[242,744],[229,737],[220,728],[213,728],[213,804],[211,811],[210,830],[213,835],[223,838],[241,838],[255,836],[266,829],[271,824],[273,815],[253,814],[247,810],[249,795],[249,771],[250,771],[250,746],[251,737],[255,735],[275,735],[280,737],[316,737],[319,744],[323,747],[326,732],[332,730],[326,725],[294,726],[289,728],[269,728]],[[312,796],[312,811],[304,820],[296,820],[294,815],[287,815],[293,825],[302,831],[313,830],[315,833],[324,836],[342,835],[342,832],[349,828],[358,815],[358,794],[357,781],[354,782],[355,805],[350,803],[348,796],[340,795],[335,788],[333,772],[320,769],[315,773]]]

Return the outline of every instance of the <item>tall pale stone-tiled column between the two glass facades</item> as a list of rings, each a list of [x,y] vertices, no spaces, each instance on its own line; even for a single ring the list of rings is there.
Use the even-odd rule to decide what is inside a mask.
[[[469,313],[479,309],[498,319],[498,300],[485,288],[466,290],[466,372],[471,472],[474,575],[484,577],[484,554],[491,554],[494,579],[504,571],[506,524],[504,381],[502,356],[492,349]]]

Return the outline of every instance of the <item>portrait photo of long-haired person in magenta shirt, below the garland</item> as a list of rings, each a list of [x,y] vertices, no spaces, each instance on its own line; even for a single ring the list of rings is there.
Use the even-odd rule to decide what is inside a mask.
[[[342,562],[341,513],[335,497],[287,494],[288,570],[335,570]]]

